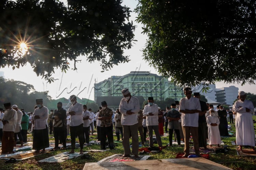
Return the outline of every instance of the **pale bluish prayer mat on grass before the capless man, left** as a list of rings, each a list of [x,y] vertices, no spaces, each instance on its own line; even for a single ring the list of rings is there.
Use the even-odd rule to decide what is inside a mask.
[[[79,152],[75,152],[75,153],[63,152],[63,153],[39,160],[38,162],[61,163],[61,162],[64,162],[65,160],[76,158],[84,154],[88,154],[88,152],[85,152],[83,154],[80,154]]]

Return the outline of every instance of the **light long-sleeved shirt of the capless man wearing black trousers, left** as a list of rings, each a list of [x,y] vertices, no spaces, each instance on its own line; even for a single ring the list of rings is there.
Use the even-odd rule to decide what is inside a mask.
[[[70,116],[70,126],[78,126],[83,123],[83,109],[83,105],[77,102],[69,107],[67,116]],[[71,111],[74,111],[75,115],[70,115]]]

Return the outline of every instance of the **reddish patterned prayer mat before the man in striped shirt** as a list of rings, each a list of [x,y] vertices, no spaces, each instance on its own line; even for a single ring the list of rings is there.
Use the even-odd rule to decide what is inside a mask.
[[[99,162],[127,162],[127,161],[135,161],[135,160],[147,160],[150,155],[139,155],[138,158],[133,156],[131,157],[122,157],[123,154],[114,154],[104,159],[101,159]]]

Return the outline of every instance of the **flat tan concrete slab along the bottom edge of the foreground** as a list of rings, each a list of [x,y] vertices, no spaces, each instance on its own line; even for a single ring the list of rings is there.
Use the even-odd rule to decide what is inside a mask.
[[[102,162],[86,163],[83,170],[224,170],[230,169],[219,165],[205,158],[182,158],[182,159],[154,159],[154,160],[137,160],[131,162]]]

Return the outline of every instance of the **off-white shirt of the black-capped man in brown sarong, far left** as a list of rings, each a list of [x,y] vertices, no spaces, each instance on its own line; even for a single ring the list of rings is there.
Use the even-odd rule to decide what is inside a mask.
[[[3,119],[7,120],[5,125],[3,125],[3,131],[14,132],[17,124],[17,112],[14,109],[10,109],[8,112],[6,111]]]

